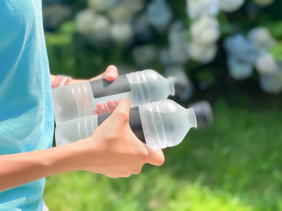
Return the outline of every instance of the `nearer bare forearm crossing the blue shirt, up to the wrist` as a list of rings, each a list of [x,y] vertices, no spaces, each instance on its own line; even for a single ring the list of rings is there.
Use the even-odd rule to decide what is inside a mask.
[[[78,171],[83,157],[77,145],[0,156],[0,192],[53,174]]]

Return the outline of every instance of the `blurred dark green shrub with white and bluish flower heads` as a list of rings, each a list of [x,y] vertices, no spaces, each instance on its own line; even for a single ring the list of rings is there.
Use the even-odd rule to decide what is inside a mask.
[[[224,81],[280,93],[279,8],[279,0],[46,0],[50,69],[80,78],[109,64],[122,74],[155,69],[178,80],[184,101]]]

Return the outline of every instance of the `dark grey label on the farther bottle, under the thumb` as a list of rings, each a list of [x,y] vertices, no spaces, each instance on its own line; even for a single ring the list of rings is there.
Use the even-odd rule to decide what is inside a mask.
[[[90,85],[94,98],[124,93],[131,90],[126,75],[117,76],[114,81],[107,81],[106,79],[90,81]]]

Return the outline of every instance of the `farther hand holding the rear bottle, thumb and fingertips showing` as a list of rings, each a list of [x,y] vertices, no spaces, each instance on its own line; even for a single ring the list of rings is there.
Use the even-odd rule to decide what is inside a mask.
[[[107,81],[114,81],[117,78],[117,76],[118,76],[117,68],[114,65],[110,65],[109,67],[107,67],[106,71],[103,74],[96,76],[95,78],[92,78],[89,81],[94,81],[98,79],[106,79]],[[69,82],[69,84],[77,84],[84,81],[86,80],[73,79]],[[97,103],[96,110],[94,110],[92,114],[96,115],[96,114],[108,113],[109,111],[113,112],[116,107],[117,107],[117,102],[115,100],[109,100],[107,106],[104,103],[100,102]]]

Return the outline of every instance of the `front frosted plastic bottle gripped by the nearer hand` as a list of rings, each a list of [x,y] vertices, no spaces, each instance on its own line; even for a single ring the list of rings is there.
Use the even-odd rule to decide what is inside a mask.
[[[111,113],[90,115],[57,125],[57,146],[90,137]],[[183,108],[172,100],[161,100],[130,108],[129,125],[134,134],[152,149],[179,144],[191,127],[197,127],[193,108]]]

